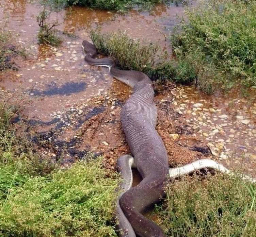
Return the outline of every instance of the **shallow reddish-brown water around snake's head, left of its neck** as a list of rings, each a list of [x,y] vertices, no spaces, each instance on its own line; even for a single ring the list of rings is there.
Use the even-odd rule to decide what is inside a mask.
[[[92,98],[107,91],[111,85],[113,79],[107,69],[91,67],[83,60],[80,45],[83,39],[89,40],[87,32],[91,28],[100,25],[105,32],[126,30],[132,37],[146,41],[150,39],[164,46],[169,43],[164,41],[161,31],[171,29],[166,28],[169,22],[177,22],[176,13],[183,14],[183,8],[177,6],[159,5],[150,14],[135,10],[117,14],[74,6],[58,14],[51,14],[50,21],[58,19],[61,23],[57,29],[63,38],[62,46],[55,48],[37,44],[39,27],[36,17],[42,11],[42,6],[26,0],[1,0],[0,6],[0,18],[8,18],[7,28],[13,34],[18,34],[18,42],[29,54],[26,61],[22,58],[16,60],[19,71],[8,71],[1,75],[2,89],[11,93],[15,91],[16,95],[20,94],[30,100],[24,115],[29,119],[43,121],[49,121],[49,115],[54,111],[80,103],[81,99]],[[159,26],[158,21],[163,26]],[[74,35],[70,37],[65,32]],[[73,88],[81,85],[81,82],[86,83],[83,90]],[[66,88],[66,93],[57,93],[61,88]],[[45,107],[45,104],[49,106]]]

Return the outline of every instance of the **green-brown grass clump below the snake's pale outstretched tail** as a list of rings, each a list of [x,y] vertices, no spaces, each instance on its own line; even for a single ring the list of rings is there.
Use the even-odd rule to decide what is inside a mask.
[[[256,185],[218,174],[185,177],[166,188],[158,224],[173,237],[255,236]]]

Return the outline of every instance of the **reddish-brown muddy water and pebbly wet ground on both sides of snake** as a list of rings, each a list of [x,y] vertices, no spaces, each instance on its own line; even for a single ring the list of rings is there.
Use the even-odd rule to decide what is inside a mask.
[[[170,52],[167,36],[184,8],[158,5],[150,13],[118,14],[71,7],[50,18],[61,23],[59,48],[37,44],[36,16],[41,10],[26,0],[0,0],[1,21],[7,19],[7,28],[17,35],[14,44],[18,41],[28,53],[26,60],[15,58],[19,71],[1,72],[2,92],[24,101],[17,120],[42,155],[62,157],[67,163],[92,151],[104,154],[106,167],[115,169],[116,158],[129,152],[119,113],[131,90],[114,80],[106,68],[87,65],[81,41],[89,40],[90,29],[100,26],[103,32],[120,29]],[[156,89],[157,130],[170,166],[209,157],[255,175],[255,98],[240,98],[235,91],[206,97],[194,87],[173,84]]]

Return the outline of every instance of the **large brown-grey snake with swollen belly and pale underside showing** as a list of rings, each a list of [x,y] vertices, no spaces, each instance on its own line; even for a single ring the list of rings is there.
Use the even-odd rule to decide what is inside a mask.
[[[83,41],[82,48],[86,53],[84,59],[87,63],[108,67],[113,77],[133,88],[133,94],[121,111],[122,127],[133,155],[123,155],[117,160],[117,169],[123,177],[122,192],[116,209],[121,235],[165,237],[161,228],[142,214],[164,196],[164,185],[169,177],[175,178],[203,168],[231,172],[210,159],[169,169],[165,146],[155,129],[157,109],[151,80],[139,71],[119,70],[109,58],[96,59],[97,49],[86,40]],[[142,176],[142,181],[135,187],[132,187],[132,167],[136,167]],[[242,178],[255,182],[248,176]]]

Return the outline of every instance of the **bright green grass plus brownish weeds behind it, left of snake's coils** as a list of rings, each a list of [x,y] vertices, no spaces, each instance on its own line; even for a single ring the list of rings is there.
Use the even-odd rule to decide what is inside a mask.
[[[40,158],[17,136],[16,111],[1,101],[0,236],[116,237],[118,175],[102,168],[101,158],[69,169]]]

